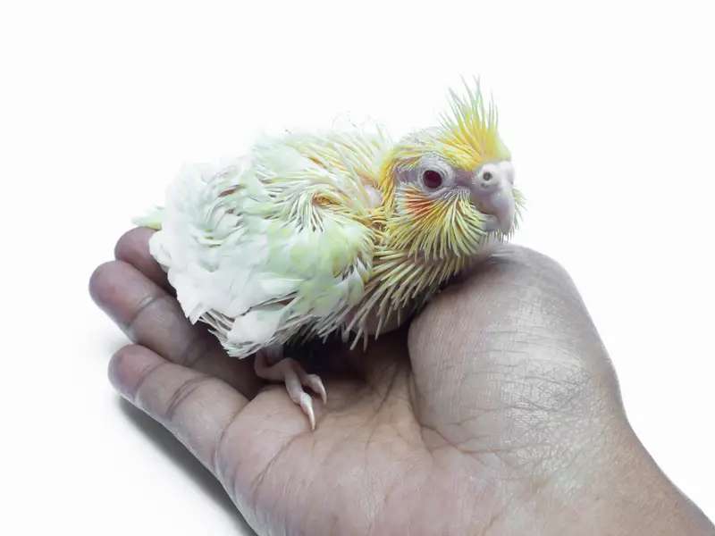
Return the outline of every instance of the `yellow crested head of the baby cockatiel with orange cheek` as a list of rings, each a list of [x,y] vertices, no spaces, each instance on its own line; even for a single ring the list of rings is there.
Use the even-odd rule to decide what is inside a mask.
[[[394,147],[381,183],[391,247],[433,258],[473,255],[516,229],[523,200],[497,123],[496,106],[484,105],[475,80],[466,96],[450,91],[440,126]]]

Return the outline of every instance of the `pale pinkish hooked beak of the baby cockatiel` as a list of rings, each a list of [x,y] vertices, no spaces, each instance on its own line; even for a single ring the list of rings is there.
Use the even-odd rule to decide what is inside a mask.
[[[514,201],[514,167],[510,162],[501,162],[490,168],[489,180],[477,173],[473,197],[475,205],[484,214],[493,215],[499,222],[499,230],[509,234],[514,226],[516,203]]]

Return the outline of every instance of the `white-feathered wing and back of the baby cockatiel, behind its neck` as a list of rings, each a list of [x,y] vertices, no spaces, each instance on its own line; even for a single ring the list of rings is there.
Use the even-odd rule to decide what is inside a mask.
[[[152,255],[192,322],[232,356],[326,336],[372,272],[382,135],[265,138],[247,159],[172,183]]]

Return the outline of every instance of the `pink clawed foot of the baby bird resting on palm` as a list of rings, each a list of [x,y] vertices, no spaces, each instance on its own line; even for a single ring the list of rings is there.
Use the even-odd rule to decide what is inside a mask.
[[[327,394],[323,381],[315,374],[308,374],[300,364],[290,357],[284,357],[276,364],[269,364],[269,356],[265,351],[259,351],[254,361],[254,370],[259,378],[270,381],[284,381],[290,399],[298,404],[310,420],[310,428],[315,430],[315,412],[313,398],[303,390],[303,386],[313,389],[320,395],[323,404]]]

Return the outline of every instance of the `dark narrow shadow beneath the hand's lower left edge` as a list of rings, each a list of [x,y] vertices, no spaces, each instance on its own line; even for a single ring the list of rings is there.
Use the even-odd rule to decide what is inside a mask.
[[[240,532],[241,534],[256,534],[246,520],[243,519],[243,516],[240,515],[231,498],[223,490],[223,486],[214,478],[214,475],[209,473],[206,467],[201,465],[189,450],[181,445],[179,440],[173,437],[164,426],[156,423],[154,419],[132,406],[124,398],[119,398],[119,405],[122,414],[135,424],[154,443],[156,448],[159,448],[166,457],[170,458],[183,473],[187,474],[191,482],[196,484],[200,490],[203,490],[235,521],[236,526],[242,531]]]

